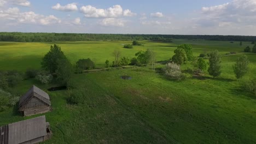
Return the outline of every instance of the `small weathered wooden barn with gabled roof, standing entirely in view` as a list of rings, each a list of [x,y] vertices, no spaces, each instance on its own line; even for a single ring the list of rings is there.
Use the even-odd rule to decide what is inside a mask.
[[[49,95],[36,86],[20,98],[19,111],[24,116],[36,115],[50,111],[51,101]]]

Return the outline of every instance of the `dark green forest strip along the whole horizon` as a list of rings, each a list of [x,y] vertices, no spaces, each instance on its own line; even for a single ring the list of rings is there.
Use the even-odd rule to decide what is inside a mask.
[[[91,33],[21,33],[0,32],[0,41],[54,42],[54,41],[98,41],[98,40],[150,40],[172,43],[173,39],[256,41],[256,36],[243,35],[177,35],[177,34],[91,34]]]

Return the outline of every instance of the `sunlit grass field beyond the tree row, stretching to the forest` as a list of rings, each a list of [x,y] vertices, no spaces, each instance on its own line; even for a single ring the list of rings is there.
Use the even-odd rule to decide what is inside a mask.
[[[242,52],[243,49],[251,43],[239,42],[230,43],[230,41],[208,41],[208,40],[174,40],[173,43],[154,43],[142,41],[144,46],[135,46],[133,49],[124,49],[122,44],[131,44],[132,41],[82,41],[82,42],[60,42],[68,59],[75,63],[79,58],[91,58],[97,67],[104,67],[106,59],[110,64],[114,60],[112,52],[115,49],[121,51],[121,56],[135,57],[135,53],[141,50],[153,49],[157,56],[157,61],[165,61],[173,56],[174,49],[179,44],[192,44],[194,55],[210,52],[213,49],[220,51],[222,55],[229,52]],[[43,56],[50,50],[50,43],[13,43],[0,42],[0,67],[1,69],[17,69],[25,71],[27,68],[40,68],[40,62]]]

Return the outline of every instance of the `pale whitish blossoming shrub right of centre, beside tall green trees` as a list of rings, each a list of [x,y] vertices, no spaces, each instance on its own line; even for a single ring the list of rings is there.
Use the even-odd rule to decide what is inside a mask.
[[[182,80],[185,78],[181,72],[179,65],[173,62],[166,64],[165,74],[171,79]]]

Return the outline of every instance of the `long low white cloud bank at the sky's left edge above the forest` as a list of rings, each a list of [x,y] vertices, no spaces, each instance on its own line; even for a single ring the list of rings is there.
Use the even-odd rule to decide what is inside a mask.
[[[60,23],[61,20],[57,17],[50,15],[44,16],[36,14],[33,11],[26,11],[21,13],[19,8],[9,8],[0,11],[0,18],[2,21],[11,23],[38,23],[40,25],[50,25],[53,23]]]

